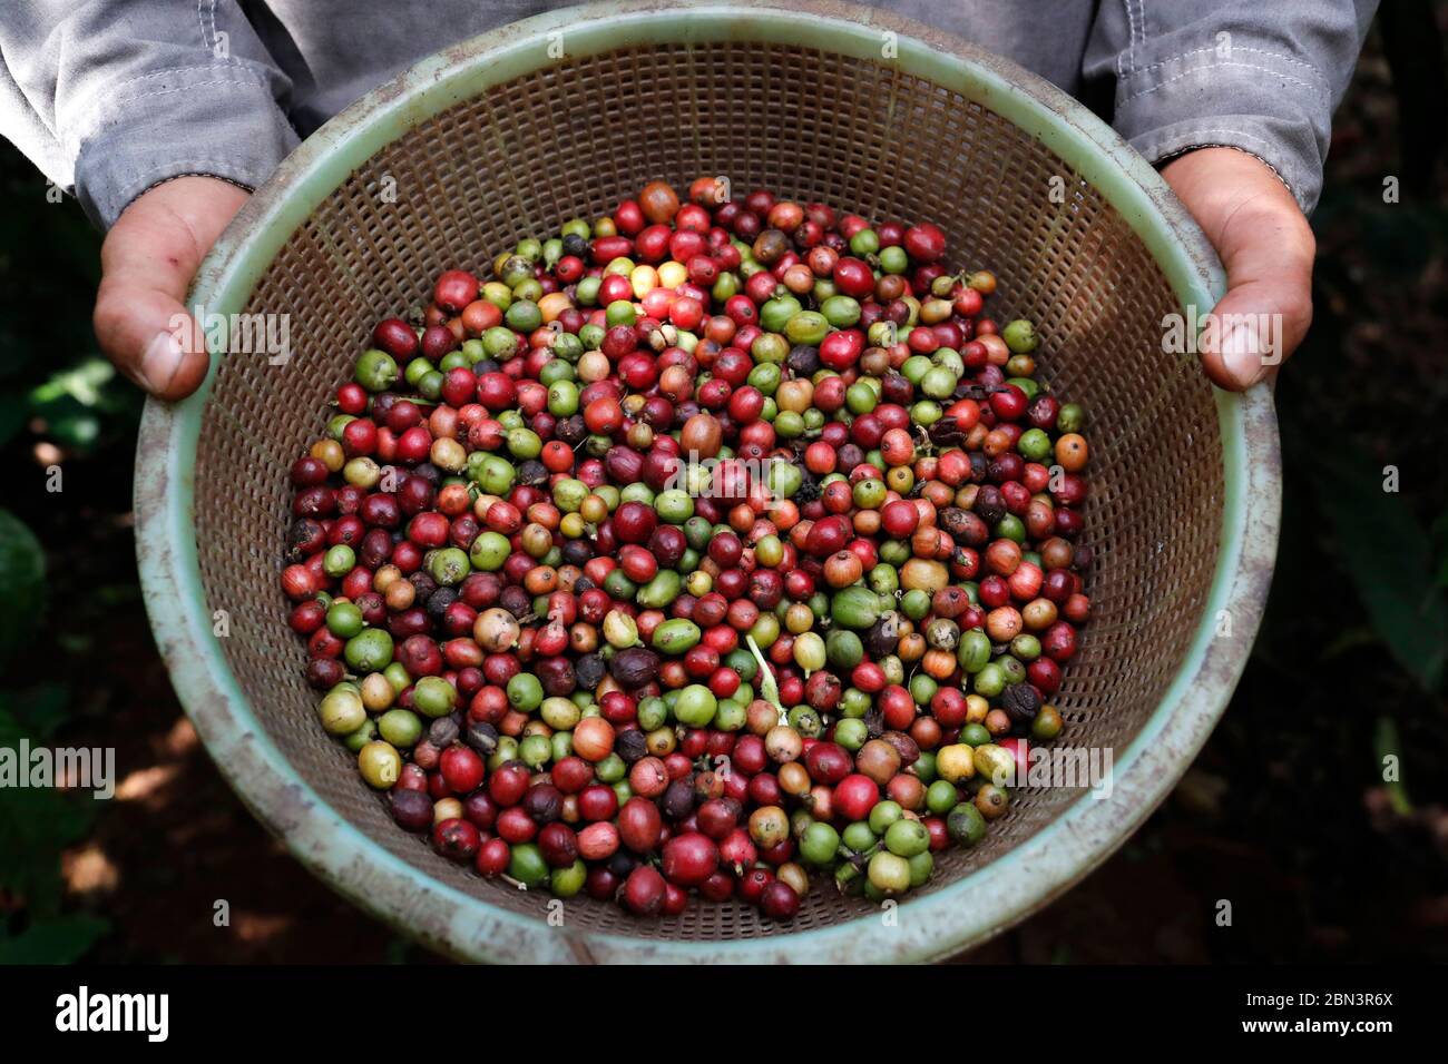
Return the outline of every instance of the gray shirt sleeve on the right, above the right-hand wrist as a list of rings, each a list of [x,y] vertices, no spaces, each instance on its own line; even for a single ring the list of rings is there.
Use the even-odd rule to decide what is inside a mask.
[[[1151,162],[1226,145],[1268,164],[1310,211],[1332,111],[1376,0],[1103,0],[1087,85]]]

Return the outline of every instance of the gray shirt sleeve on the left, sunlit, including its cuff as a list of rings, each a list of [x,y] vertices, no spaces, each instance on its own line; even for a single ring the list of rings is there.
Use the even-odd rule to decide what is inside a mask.
[[[0,135],[100,226],[182,174],[255,188],[297,143],[236,0],[7,0],[0,56]]]

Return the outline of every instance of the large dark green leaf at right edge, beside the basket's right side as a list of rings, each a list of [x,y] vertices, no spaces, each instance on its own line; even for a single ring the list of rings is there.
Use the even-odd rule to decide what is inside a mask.
[[[1435,588],[1428,534],[1365,460],[1322,455],[1313,484],[1374,631],[1409,675],[1436,691],[1448,654],[1448,602]]]

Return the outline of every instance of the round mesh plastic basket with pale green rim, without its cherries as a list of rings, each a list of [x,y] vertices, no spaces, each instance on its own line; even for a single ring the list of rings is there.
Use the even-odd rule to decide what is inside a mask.
[[[990,268],[1044,376],[1086,405],[1095,617],[1057,699],[1063,743],[1109,748],[1111,796],[1022,789],[888,918],[817,884],[789,925],[695,902],[665,921],[471,874],[400,831],[317,725],[277,575],[287,468],[371,326],[445,268],[646,181],[728,175],[875,219],[930,217]],[[1056,193],[1053,195],[1053,191]],[[1221,715],[1271,576],[1280,505],[1266,388],[1215,391],[1164,355],[1163,317],[1208,310],[1216,258],[1158,175],[1056,88],[882,12],[799,0],[610,3],[458,45],[311,136],[201,269],[207,311],[290,316],[292,355],[214,359],[152,402],[136,486],[161,651],[223,774],[348,898],[463,958],[882,961],[944,957],[1064,892],[1166,796]],[[224,611],[226,625],[217,625]],[[226,636],[213,634],[216,630]]]

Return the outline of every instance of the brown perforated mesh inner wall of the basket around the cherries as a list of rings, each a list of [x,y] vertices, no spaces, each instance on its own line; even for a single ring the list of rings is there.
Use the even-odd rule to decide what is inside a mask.
[[[320,203],[243,308],[290,316],[292,358],[230,356],[216,375],[195,446],[197,562],[206,608],[230,617],[226,663],[317,795],[427,876],[539,919],[546,896],[484,882],[397,828],[319,727],[278,589],[287,468],[321,434],[372,324],[421,304],[440,271],[487,271],[518,239],[608,213],[649,180],[682,190],[705,174],[728,175],[740,194],[767,187],[876,220],[931,219],[948,233],[951,266],[999,276],[992,313],[1037,323],[1041,376],[1086,407],[1092,444],[1083,541],[1096,553],[1095,612],[1056,699],[1061,741],[1119,753],[1141,731],[1196,634],[1218,562],[1218,411],[1195,360],[1161,355],[1161,318],[1179,308],[1166,276],[1096,190],[989,107],[886,59],[720,39],[547,59],[414,124]],[[921,893],[986,867],[1080,793],[1016,792],[986,841],[943,854]],[[788,926],[704,902],[639,921],[575,900],[568,921],[733,940],[870,912],[818,884]]]

